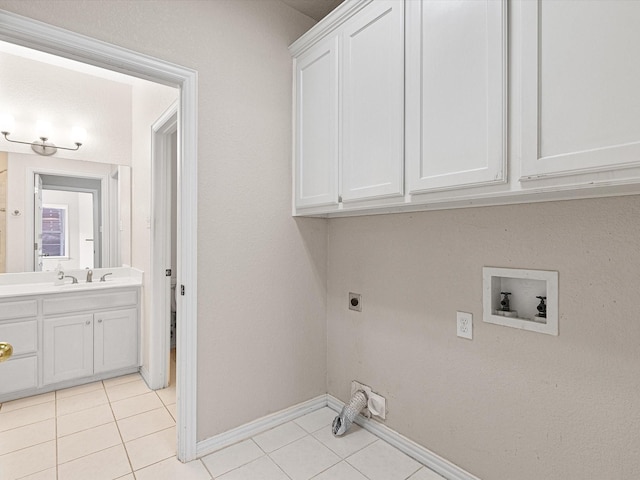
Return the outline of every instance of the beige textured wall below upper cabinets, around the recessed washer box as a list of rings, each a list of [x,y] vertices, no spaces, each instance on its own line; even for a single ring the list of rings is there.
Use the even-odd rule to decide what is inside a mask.
[[[631,196],[330,220],[329,393],[370,385],[482,479],[640,478],[639,218]],[[483,323],[483,266],[558,271],[560,335]]]

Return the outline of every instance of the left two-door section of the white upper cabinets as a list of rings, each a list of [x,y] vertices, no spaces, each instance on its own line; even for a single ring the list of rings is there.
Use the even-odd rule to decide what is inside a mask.
[[[290,49],[296,212],[404,193],[404,3],[350,2],[338,13]]]

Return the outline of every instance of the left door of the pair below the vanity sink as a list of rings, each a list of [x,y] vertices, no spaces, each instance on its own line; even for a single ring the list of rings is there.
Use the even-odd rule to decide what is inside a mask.
[[[44,384],[93,374],[93,315],[44,320]]]

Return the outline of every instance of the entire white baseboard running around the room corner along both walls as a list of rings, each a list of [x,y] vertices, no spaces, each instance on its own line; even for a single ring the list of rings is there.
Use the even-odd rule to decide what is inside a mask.
[[[271,428],[300,418],[320,408],[329,407],[339,413],[343,406],[344,403],[331,395],[320,395],[319,397],[259,418],[253,422],[221,433],[220,435],[202,440],[196,445],[196,456],[198,458],[203,457]],[[356,418],[355,423],[447,480],[480,480],[478,477],[462,470],[460,467],[433,453],[431,450],[418,445],[413,440],[409,440],[407,437],[400,435],[395,430],[375,420],[369,420],[360,415]]]

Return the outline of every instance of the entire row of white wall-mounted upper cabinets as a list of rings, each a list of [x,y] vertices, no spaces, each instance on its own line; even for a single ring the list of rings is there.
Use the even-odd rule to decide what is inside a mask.
[[[345,0],[290,51],[294,215],[640,193],[640,0]]]

